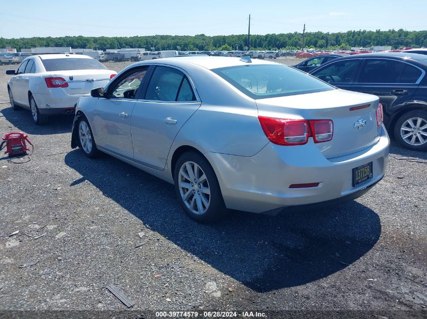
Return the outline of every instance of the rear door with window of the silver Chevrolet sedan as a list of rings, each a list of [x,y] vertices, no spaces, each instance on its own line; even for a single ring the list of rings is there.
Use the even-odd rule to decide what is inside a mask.
[[[132,112],[134,159],[162,170],[175,136],[200,107],[189,77],[173,67],[158,66]]]

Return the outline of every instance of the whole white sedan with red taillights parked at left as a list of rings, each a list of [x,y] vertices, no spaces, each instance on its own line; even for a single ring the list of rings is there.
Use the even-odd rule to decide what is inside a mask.
[[[31,110],[36,124],[48,122],[49,115],[73,114],[79,97],[105,86],[117,72],[96,59],[77,54],[40,54],[24,59],[8,81],[13,109]]]

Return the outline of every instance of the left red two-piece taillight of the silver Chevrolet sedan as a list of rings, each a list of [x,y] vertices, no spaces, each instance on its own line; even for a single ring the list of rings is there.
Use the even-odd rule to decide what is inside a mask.
[[[314,143],[327,142],[332,139],[334,123],[330,119],[295,120],[258,116],[266,137],[277,145],[304,145],[309,137]]]

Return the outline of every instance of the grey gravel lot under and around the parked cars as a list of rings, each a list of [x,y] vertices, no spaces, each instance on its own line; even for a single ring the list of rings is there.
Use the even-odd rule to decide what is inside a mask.
[[[120,71],[127,63],[106,65]],[[0,155],[0,310],[127,309],[105,288],[114,284],[147,318],[153,310],[208,309],[280,318],[284,310],[427,315],[426,153],[392,142],[386,177],[335,209],[233,212],[199,225],[181,211],[172,185],[72,150],[72,117],[36,126],[29,111],[12,110],[10,68],[0,67],[0,134],[27,133],[34,153]]]

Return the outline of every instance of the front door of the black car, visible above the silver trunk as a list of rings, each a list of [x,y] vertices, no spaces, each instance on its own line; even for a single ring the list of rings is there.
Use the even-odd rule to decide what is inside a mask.
[[[361,58],[339,58],[316,68],[310,74],[340,89],[350,90],[361,60]]]

